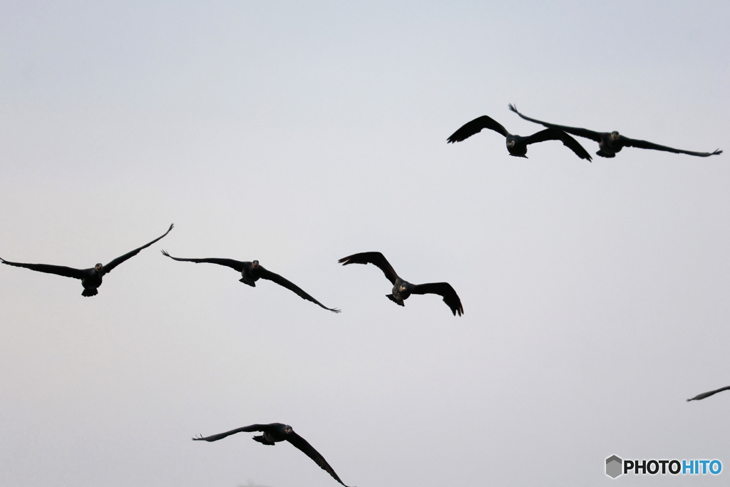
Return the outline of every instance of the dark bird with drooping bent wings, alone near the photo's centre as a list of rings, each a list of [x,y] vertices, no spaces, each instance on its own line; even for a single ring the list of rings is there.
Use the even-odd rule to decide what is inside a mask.
[[[338,261],[343,266],[347,264],[374,264],[380,267],[385,277],[393,284],[393,294],[386,294],[392,302],[405,306],[403,300],[407,299],[411,294],[438,294],[444,298],[444,302],[451,309],[454,316],[458,312],[461,316],[464,313],[464,307],[461,306],[454,288],[449,283],[429,283],[429,284],[411,284],[407,280],[403,280],[393,270],[393,266],[385,259],[380,252],[363,252],[347,256]]]

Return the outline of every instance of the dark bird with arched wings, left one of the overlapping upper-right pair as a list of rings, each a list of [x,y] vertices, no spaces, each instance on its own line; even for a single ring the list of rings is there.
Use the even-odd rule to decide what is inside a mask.
[[[573,137],[570,137],[564,131],[557,129],[545,129],[532,134],[529,137],[520,137],[519,135],[512,135],[507,131],[499,122],[493,118],[483,115],[480,118],[475,118],[471,122],[465,123],[456,132],[451,134],[451,137],[446,139],[447,143],[461,142],[464,139],[472,137],[474,134],[478,134],[482,129],[490,129],[502,134],[507,137],[507,150],[510,152],[510,156],[527,158],[527,146],[536,142],[545,142],[545,140],[560,140],[563,145],[568,147],[570,150],[575,152],[575,155],[581,159],[586,159],[588,162],[591,161],[591,154],[580,145]]]

